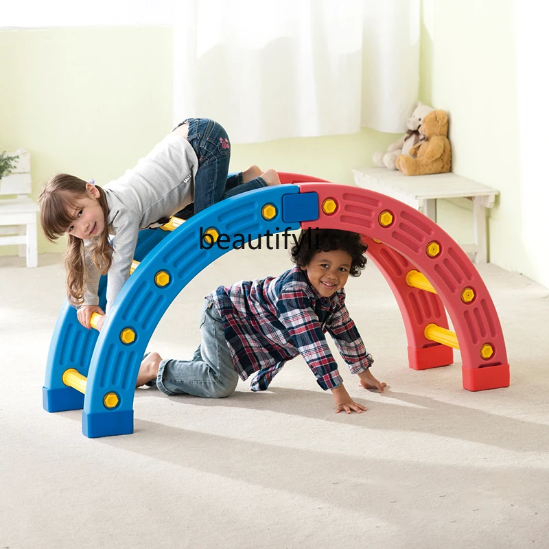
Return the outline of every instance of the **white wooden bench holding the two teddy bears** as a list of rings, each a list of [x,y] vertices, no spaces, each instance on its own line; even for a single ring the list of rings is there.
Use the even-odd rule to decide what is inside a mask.
[[[493,207],[495,195],[500,191],[456,174],[405,176],[384,167],[364,167],[353,170],[355,183],[405,202],[421,210],[436,222],[437,198],[471,198],[473,200],[474,244],[461,246],[465,253],[474,256],[475,263],[486,263],[488,243],[486,209]]]

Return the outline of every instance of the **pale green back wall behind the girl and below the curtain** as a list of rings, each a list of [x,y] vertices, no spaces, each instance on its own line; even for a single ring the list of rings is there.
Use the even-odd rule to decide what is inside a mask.
[[[0,144],[30,151],[34,198],[56,172],[99,184],[117,178],[172,128],[170,27],[3,31],[0,67]],[[231,170],[257,164],[350,185],[351,169],[394,139],[363,129],[237,144]],[[40,253],[62,249],[39,239]],[[8,253],[16,247],[0,248]]]

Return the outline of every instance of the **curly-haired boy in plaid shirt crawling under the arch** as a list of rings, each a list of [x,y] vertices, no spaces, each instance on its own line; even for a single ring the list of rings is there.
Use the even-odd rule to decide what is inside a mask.
[[[205,298],[200,316],[202,343],[191,360],[145,355],[137,386],[158,386],[167,395],[221,398],[234,392],[238,377],[255,374],[252,390],[266,390],[287,360],[299,353],[324,390],[334,396],[336,413],[366,410],[347,393],[331,355],[325,331],[336,342],[351,373],[364,388],[380,383],[370,373],[366,352],[345,305],[349,274],[366,265],[360,235],[333,229],[301,231],[290,251],[296,266],[279,277],[220,286]]]

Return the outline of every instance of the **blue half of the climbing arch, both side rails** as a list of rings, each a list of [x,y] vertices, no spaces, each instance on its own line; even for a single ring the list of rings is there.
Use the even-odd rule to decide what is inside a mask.
[[[294,196],[293,201],[290,196]],[[286,197],[284,206],[283,197]],[[261,215],[261,209],[266,205],[276,209],[277,213],[271,220],[265,220]],[[294,211],[292,217],[296,220],[285,222],[283,208],[286,212]],[[67,305],[63,309],[48,359],[45,408],[57,411],[82,407],[61,404],[63,399],[73,399],[73,402],[78,398],[75,395],[68,397],[67,391],[80,395],[73,388],[65,387],[61,380],[67,368],[75,367],[88,378],[83,399],[82,432],[90,438],[133,432],[135,382],[141,358],[156,325],[189,281],[215,259],[233,249],[230,245],[224,246],[226,249],[218,245],[211,248],[200,246],[200,236],[212,228],[219,234],[229,235],[231,242],[235,242],[239,234],[245,235],[247,241],[248,235],[257,237],[274,234],[286,228],[297,230],[300,227],[297,219],[302,220],[303,215],[310,213],[303,211],[299,186],[281,185],[223,200],[195,215],[176,231],[165,233],[159,242],[153,242],[156,237],[144,236],[143,246],[137,251],[146,257],[124,285],[98,337],[95,330],[87,331],[78,325],[73,309],[67,310]],[[142,232],[154,234],[164,231]],[[170,277],[167,285],[159,286],[154,282],[160,270],[167,272]],[[105,289],[102,281],[102,299]],[[135,340],[129,344],[124,343],[120,337],[127,329],[135,334]],[[78,337],[78,344],[71,341],[77,331],[83,334]],[[67,360],[67,356],[71,360]],[[65,360],[58,360],[60,358]],[[84,364],[89,364],[89,367]],[[54,397],[56,390],[63,390],[64,394]],[[118,404],[115,408],[109,409],[104,405],[107,393],[117,395]]]

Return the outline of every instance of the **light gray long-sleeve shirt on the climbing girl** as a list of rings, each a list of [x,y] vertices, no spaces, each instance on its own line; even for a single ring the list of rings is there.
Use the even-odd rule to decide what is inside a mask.
[[[198,158],[189,141],[170,134],[141,159],[137,166],[104,187],[108,203],[108,232],[113,240],[113,263],[107,277],[106,312],[130,276],[140,229],[170,217],[194,201]],[[97,239],[86,241],[86,292],[84,305],[98,305],[100,272],[88,250]]]

